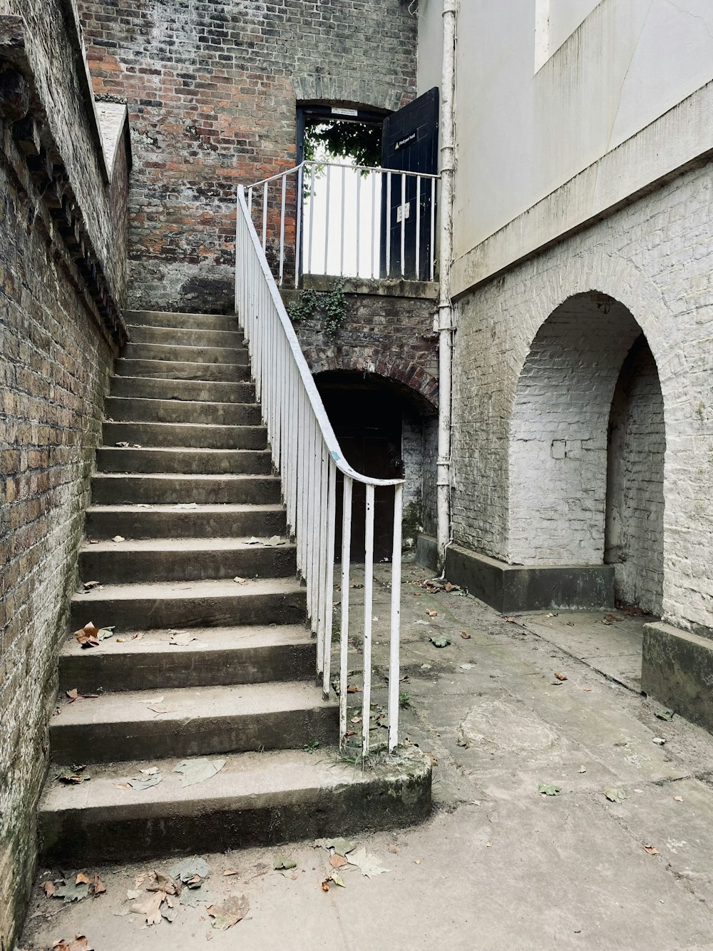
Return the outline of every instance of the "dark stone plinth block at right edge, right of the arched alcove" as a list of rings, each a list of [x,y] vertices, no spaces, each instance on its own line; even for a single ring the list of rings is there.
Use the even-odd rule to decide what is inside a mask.
[[[646,624],[641,687],[713,732],[713,641],[661,621]]]

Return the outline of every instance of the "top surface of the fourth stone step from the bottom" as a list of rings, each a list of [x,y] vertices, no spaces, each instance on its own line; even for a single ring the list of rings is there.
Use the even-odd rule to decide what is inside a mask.
[[[302,592],[299,581],[294,578],[251,578],[249,584],[237,585],[232,579],[210,581],[149,581],[141,584],[103,585],[102,590],[79,592],[72,601],[91,607],[96,601],[134,601],[150,598],[160,601],[192,601],[200,597],[246,597],[253,594],[291,594]]]

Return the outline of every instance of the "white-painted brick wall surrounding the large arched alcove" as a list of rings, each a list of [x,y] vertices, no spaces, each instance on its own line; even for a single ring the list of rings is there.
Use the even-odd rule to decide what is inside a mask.
[[[704,165],[465,295],[453,407],[456,540],[507,560],[512,409],[532,341],[575,294],[621,301],[646,335],[665,407],[663,611],[703,633],[713,631],[712,219]],[[607,333],[618,345],[619,327]],[[536,485],[535,519],[551,499],[546,481]]]

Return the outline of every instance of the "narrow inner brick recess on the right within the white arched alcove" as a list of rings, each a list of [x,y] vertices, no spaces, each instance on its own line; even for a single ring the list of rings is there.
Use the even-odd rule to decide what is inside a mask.
[[[617,383],[609,418],[607,552],[617,600],[661,613],[664,590],[664,400],[640,338]]]

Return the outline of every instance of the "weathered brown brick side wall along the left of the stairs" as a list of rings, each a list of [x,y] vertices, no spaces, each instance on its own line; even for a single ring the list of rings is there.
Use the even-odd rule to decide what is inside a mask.
[[[106,183],[89,126],[71,128],[82,112],[80,84],[57,4],[23,0],[22,14],[27,18],[0,14],[0,62],[19,65],[29,90],[22,117],[0,95],[3,951],[14,947],[32,881],[58,645],[67,633],[107,380],[122,340],[112,293],[124,293],[127,191],[124,146]]]

